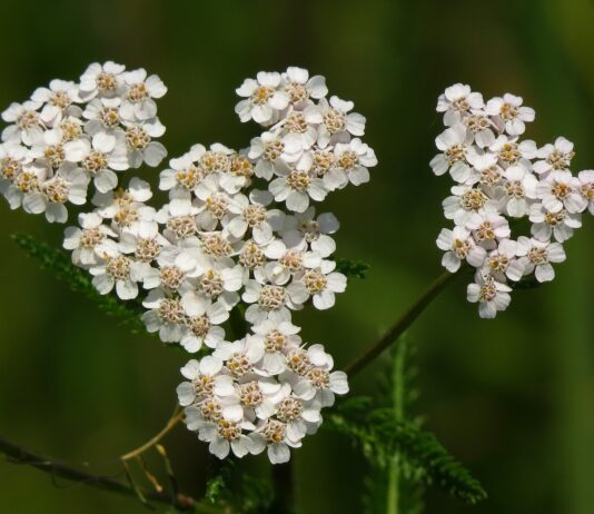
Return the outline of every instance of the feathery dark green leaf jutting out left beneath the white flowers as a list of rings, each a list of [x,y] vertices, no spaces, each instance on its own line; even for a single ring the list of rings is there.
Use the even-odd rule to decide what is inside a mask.
[[[93,287],[90,275],[75,266],[67,251],[53,248],[28,234],[14,234],[12,239],[29,257],[39,260],[42,269],[51,271],[59,280],[66,283],[70,289],[86,296],[102,312],[109,316],[121,318],[122,324],[132,332],[145,330],[145,325],[140,319],[141,305],[135,302],[125,303],[113,294],[100,295]]]

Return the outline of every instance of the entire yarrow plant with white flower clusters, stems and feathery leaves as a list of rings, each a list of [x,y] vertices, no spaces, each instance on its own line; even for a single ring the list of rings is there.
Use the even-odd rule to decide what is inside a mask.
[[[360,277],[367,269],[363,263],[337,263],[339,223],[320,208],[333,192],[367,182],[377,165],[360,139],[365,117],[352,101],[328,98],[321,76],[296,67],[259,72],[237,89],[235,110],[261,132],[240,150],[197,144],[170,159],[158,177],[167,201],[151,205],[148,181],[120,178],[145,164],[158,167],[167,156],[157,141],[165,134],[157,100],[166,92],[157,76],[106,62],[90,65],[78,82],[53,80],[12,103],[2,113],[8,127],[0,144],[0,192],[12,209],[44,212],[50,223],[68,220],[67,204],[91,204],[65,230],[70,255],[28,236],[17,240],[108,314],[132,319],[192,356],[181,368],[177,408],[159,434],[121,456],[129,487],[65,465],[46,466],[44,458],[1,438],[0,452],[56,476],[133,493],[145,503],[150,497],[178,512],[197,503],[177,494],[158,443],[181,419],[220,459],[266,453],[273,464],[287,463],[290,448],[324,426],[358,445],[378,475],[368,506],[374,497],[380,506],[369,512],[384,511],[386,497],[397,511],[400,493],[413,491],[409,485],[416,487],[409,498],[415,504],[418,487],[430,483],[466,503],[485,498],[481,484],[408,416],[416,395],[408,391],[412,352],[404,338],[383,384],[388,405],[354,397],[323,419],[336,396],[348,393],[347,374],[335,370],[323,345],[304,342],[294,313],[309,304],[331,308],[346,289],[346,275]],[[347,366],[349,375],[398,340],[463,266],[475,270],[467,294],[482,317],[505,309],[514,285],[553,279],[553,264],[565,259],[563,243],[581,226],[583,212],[594,214],[594,171],[572,175],[573,145],[557,138],[538,148],[519,139],[535,117],[522,98],[505,95],[485,103],[468,86],[455,85],[439,97],[437,110],[446,129],[430,166],[455,181],[443,202],[453,226],[437,238],[449,273]],[[165,459],[172,495],[142,459],[151,447]],[[157,492],[133,483],[130,459],[138,459]],[[278,481],[286,466],[274,474],[276,494],[285,496],[278,505],[254,497],[261,484],[245,484],[248,498],[231,491],[221,501],[222,476],[235,465],[227,459],[206,486],[208,500],[217,503],[219,496],[220,512],[290,511],[290,478]],[[420,512],[413,503],[407,508]]]

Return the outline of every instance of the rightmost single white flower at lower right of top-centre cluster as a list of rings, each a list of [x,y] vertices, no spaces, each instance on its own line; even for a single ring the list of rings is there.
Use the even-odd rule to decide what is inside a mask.
[[[377,158],[374,150],[360,139],[355,138],[348,144],[337,144],[334,154],[334,166],[324,175],[327,189],[341,189],[348,182],[360,186],[369,181],[367,168],[376,166]]]

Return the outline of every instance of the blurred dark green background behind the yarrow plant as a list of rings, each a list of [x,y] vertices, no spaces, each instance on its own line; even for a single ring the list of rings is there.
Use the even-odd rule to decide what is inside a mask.
[[[258,70],[296,65],[368,119],[373,180],[327,202],[341,221],[338,255],[372,265],[330,312],[300,316],[304,335],[346,365],[442,270],[446,178],[428,160],[437,95],[457,81],[485,97],[512,91],[537,111],[527,136],[575,141],[575,170],[594,168],[594,3],[563,1],[3,0],[0,106],[95,60],[146,67],[169,87],[160,101],[171,156],[195,142],[239,148],[257,132],[234,113],[235,88]],[[143,169],[155,180],[156,170]],[[428,513],[594,512],[594,224],[566,245],[567,263],[509,310],[481,320],[457,280],[410,330],[420,348],[418,411],[483,482],[466,507],[432,492]],[[11,241],[21,230],[56,245],[61,228],[0,216],[0,433],[98,473],[156,433],[175,403],[185,358],[131,336],[38,269]],[[373,393],[377,372],[354,380]],[[167,439],[181,486],[199,492],[205,447],[182,428]],[[363,461],[336,436],[297,452],[300,512],[360,512]],[[65,485],[65,484],[60,484]],[[0,462],[0,512],[142,513],[133,500]]]

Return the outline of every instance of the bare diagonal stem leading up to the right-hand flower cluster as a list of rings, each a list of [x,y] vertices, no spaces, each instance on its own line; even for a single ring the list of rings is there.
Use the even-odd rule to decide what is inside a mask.
[[[396,322],[396,324],[374,345],[367,347],[346,368],[347,375],[359,373],[365,366],[380,355],[386,348],[395,343],[398,337],[413,324],[413,322],[425,310],[432,300],[447,286],[457,273],[445,271],[429,288],[418,298],[418,300]]]

